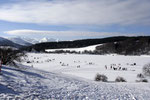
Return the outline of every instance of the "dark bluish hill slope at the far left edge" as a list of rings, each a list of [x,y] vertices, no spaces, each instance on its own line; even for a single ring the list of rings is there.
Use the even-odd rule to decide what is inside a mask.
[[[23,46],[16,44],[8,39],[2,38],[0,37],[0,46],[10,46],[10,47],[14,47],[14,48],[21,48]]]

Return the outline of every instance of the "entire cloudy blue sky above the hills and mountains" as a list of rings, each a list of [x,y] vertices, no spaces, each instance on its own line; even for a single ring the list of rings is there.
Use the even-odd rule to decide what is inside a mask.
[[[60,40],[150,35],[149,0],[1,0],[0,36]]]

